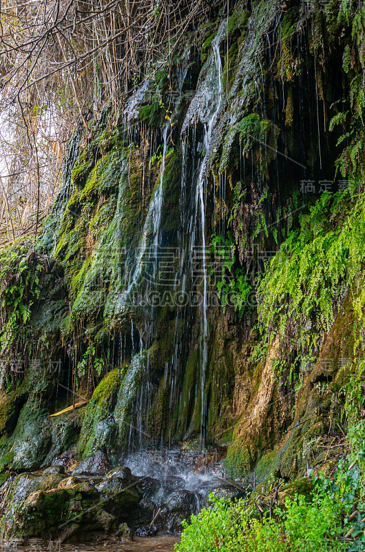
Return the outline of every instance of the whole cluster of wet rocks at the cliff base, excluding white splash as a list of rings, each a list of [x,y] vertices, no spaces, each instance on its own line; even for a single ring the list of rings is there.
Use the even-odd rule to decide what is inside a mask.
[[[47,534],[62,542],[82,542],[127,539],[131,529],[139,536],[180,532],[183,520],[189,520],[202,505],[198,493],[181,490],[184,479],[177,475],[158,480],[133,475],[126,466],[103,473],[101,469],[109,466],[100,452],[76,467],[79,474],[55,465],[43,473],[22,473],[3,484],[2,522],[7,540]],[[207,486],[202,494],[211,491],[218,492]],[[228,493],[222,486],[219,492]]]

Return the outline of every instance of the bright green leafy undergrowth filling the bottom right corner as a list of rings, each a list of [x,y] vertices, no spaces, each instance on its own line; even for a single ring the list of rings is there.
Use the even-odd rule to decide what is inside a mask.
[[[364,421],[350,428],[348,442],[351,453],[333,476],[316,475],[309,495],[286,496],[276,509],[261,502],[258,514],[257,496],[231,502],[210,495],[209,506],[185,522],[176,552],[363,551]]]

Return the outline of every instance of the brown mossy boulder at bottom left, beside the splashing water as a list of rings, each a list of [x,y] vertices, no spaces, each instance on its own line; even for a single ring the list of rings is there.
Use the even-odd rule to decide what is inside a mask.
[[[129,527],[138,521],[151,522],[153,512],[140,502],[156,491],[158,484],[152,477],[134,477],[123,466],[103,478],[62,472],[52,466],[37,475],[21,474],[3,485],[6,539],[48,534],[62,542],[123,541],[132,535]],[[100,491],[96,488],[99,485]]]

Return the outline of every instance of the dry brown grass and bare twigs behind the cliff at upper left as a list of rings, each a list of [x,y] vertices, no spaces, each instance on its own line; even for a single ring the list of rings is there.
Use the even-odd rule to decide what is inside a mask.
[[[221,0],[6,0],[0,12],[0,243],[47,215],[71,132],[114,113]],[[10,175],[10,176],[6,176]]]

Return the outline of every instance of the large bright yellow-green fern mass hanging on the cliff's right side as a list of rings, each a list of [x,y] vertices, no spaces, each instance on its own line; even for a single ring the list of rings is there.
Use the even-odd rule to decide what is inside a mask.
[[[362,290],[365,262],[365,195],[342,225],[348,193],[324,194],[302,215],[272,259],[258,286],[260,330],[269,341],[279,335],[288,354],[315,355],[349,288]],[[365,294],[354,304],[358,319]],[[361,297],[361,299],[359,299]]]

